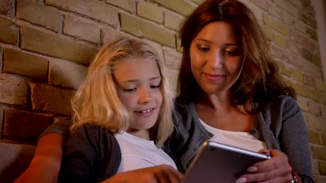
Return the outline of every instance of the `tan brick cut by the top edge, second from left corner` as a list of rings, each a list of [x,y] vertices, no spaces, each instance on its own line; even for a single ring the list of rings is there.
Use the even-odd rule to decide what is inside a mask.
[[[56,8],[45,6],[33,0],[17,1],[16,17],[54,30],[56,33],[61,31],[61,12]]]

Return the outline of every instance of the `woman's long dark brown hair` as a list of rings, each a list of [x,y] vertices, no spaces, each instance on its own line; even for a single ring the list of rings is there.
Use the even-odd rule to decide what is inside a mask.
[[[177,100],[180,104],[194,102],[201,92],[190,68],[190,44],[201,29],[213,21],[231,24],[241,40],[244,66],[232,87],[233,104],[258,103],[258,108],[244,105],[246,112],[253,114],[275,96],[286,94],[295,98],[295,90],[286,86],[279,76],[279,68],[268,52],[267,39],[251,10],[236,0],[207,0],[187,17],[179,31],[183,46],[178,75]]]

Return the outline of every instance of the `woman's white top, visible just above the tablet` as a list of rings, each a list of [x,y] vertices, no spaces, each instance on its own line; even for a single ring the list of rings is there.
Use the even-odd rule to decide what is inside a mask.
[[[199,119],[201,121],[201,119]],[[238,148],[244,148],[247,150],[252,150],[258,152],[263,148],[266,148],[266,144],[263,141],[259,141],[256,137],[252,136],[247,132],[233,132],[228,130],[219,130],[217,128],[213,128],[210,125],[207,125],[203,121],[201,124],[205,127],[208,132],[214,134],[211,141],[216,141],[219,143],[224,143],[229,146],[235,146]]]

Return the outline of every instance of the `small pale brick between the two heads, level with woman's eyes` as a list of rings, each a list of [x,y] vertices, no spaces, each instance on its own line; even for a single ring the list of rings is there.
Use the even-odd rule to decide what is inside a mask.
[[[182,54],[170,48],[163,48],[166,67],[178,70],[181,63]]]

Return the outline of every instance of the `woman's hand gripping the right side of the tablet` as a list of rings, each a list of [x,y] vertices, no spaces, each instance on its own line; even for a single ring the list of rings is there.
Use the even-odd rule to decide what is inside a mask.
[[[270,154],[271,159],[258,162],[247,168],[247,174],[241,175],[235,183],[288,183],[293,179],[292,167],[286,154],[279,150],[260,150],[259,153]],[[300,180],[301,181],[301,180]]]

